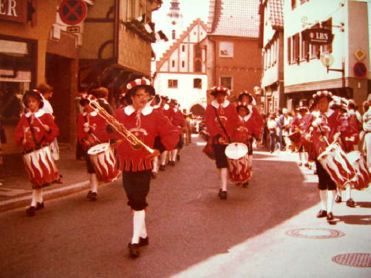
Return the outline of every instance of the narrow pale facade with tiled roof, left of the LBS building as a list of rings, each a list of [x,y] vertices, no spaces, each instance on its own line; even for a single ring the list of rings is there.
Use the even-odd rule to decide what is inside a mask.
[[[262,0],[260,36],[262,48],[262,104],[265,113],[286,105],[284,100],[283,0]]]

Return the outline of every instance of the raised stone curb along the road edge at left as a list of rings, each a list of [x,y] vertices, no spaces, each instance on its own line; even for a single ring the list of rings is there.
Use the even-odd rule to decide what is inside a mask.
[[[43,192],[44,200],[52,200],[64,196],[69,196],[71,194],[82,192],[89,189],[89,181],[82,181],[81,183],[76,183],[74,185],[68,185],[66,187],[60,187],[57,189],[45,190]],[[30,205],[32,195],[23,196],[19,198],[13,198],[10,200],[5,200],[0,202],[0,213],[5,211],[10,211],[11,209],[18,209],[20,207],[26,207]]]

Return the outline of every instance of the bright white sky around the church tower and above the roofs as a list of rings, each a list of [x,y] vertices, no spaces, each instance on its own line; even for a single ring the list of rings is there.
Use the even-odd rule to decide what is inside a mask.
[[[156,31],[163,30],[165,27],[166,14],[170,11],[170,1],[164,0],[159,10],[152,13],[152,21],[156,23]],[[371,0],[370,0],[371,1]],[[194,21],[194,19],[200,18],[207,23],[207,17],[209,16],[209,0],[179,0],[179,8],[183,13],[183,30]],[[161,58],[161,54],[168,48],[168,43],[163,40],[158,43],[153,43],[152,47],[156,53],[156,60]]]

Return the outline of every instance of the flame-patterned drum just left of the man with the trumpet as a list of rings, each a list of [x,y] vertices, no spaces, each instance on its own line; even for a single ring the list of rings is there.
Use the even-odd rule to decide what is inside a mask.
[[[119,175],[115,154],[109,143],[102,143],[91,147],[88,152],[91,163],[93,164],[98,181],[110,183],[115,181]]]

